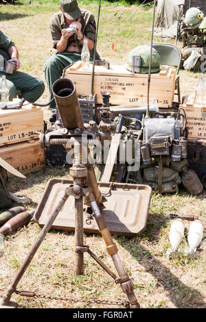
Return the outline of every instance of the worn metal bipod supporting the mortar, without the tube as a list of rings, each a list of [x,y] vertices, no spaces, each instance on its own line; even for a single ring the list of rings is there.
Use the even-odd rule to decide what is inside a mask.
[[[71,185],[65,189],[65,194],[58,202],[56,208],[54,208],[54,210],[52,211],[52,214],[47,220],[45,226],[43,227],[43,230],[40,236],[38,237],[38,240],[36,240],[36,243],[34,244],[27,258],[23,262],[23,265],[17,273],[16,277],[14,278],[14,281],[8,287],[8,290],[5,292],[5,295],[3,295],[3,299],[1,301],[1,308],[16,307],[16,304],[10,301],[12,293],[19,293],[16,290],[17,284],[21,280],[23,273],[25,273],[25,270],[32,261],[32,258],[34,258],[34,255],[38,250],[38,247],[40,247],[41,243],[43,242],[43,239],[49,231],[49,228],[52,226],[52,223],[56,219],[56,216],[58,216],[58,213],[64,206],[69,195],[73,195],[73,197],[75,198],[76,208],[76,275],[82,275],[84,273],[83,257],[84,251],[87,251],[103,267],[103,269],[109,275],[111,275],[111,277],[113,277],[116,283],[121,284],[123,292],[126,293],[126,295],[128,296],[128,300],[130,301],[130,308],[139,308],[139,304],[137,302],[133,290],[133,283],[130,281],[124,267],[122,266],[122,262],[117,253],[117,246],[115,245],[115,243],[113,243],[111,234],[108,230],[106,222],[104,221],[104,216],[100,212],[100,208],[98,207],[98,203],[95,201],[93,194],[91,193],[91,189],[84,186],[85,180],[87,178],[87,166],[83,166],[82,164],[73,164],[70,174],[73,176],[74,185]],[[91,205],[91,209],[93,210],[93,216],[95,217],[95,220],[98,223],[98,227],[106,243],[106,249],[108,251],[108,254],[111,255],[119,278],[117,278],[115,274],[113,274],[100,259],[96,258],[96,256],[89,250],[89,247],[84,246],[83,244],[83,197]]]

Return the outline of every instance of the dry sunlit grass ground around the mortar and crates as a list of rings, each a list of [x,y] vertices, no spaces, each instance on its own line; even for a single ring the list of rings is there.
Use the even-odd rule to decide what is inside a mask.
[[[43,64],[49,55],[52,40],[49,34],[49,18],[58,10],[52,1],[38,5],[0,5],[1,30],[15,41],[21,58],[21,71],[34,76],[43,75]],[[97,17],[98,1],[78,1],[94,12]],[[88,4],[89,3],[89,4]],[[117,12],[117,15],[115,13]],[[117,18],[122,14],[121,18]],[[152,23],[150,7],[108,5],[103,1],[98,52],[102,58],[122,64],[130,49],[150,42],[148,27]],[[156,40],[161,41],[156,38]],[[112,50],[114,43],[114,50]],[[196,73],[181,71],[182,95],[194,90]],[[48,100],[45,90],[40,101]],[[44,109],[45,119],[49,111]],[[16,195],[30,197],[31,208],[36,208],[43,195],[47,181],[51,177],[69,177],[65,169],[46,168],[27,174],[27,180],[9,180],[8,187]],[[179,255],[168,259],[165,255],[170,243],[169,214],[196,214],[206,223],[205,194],[192,197],[185,191],[179,195],[161,196],[152,194],[146,230],[135,238],[113,237],[133,283],[135,294],[142,308],[206,308],[205,253],[200,251],[198,259],[184,256],[187,246],[187,229]],[[186,228],[189,223],[185,222]],[[11,234],[0,249],[0,295],[8,287],[30,247],[34,244],[41,228],[34,221],[27,227]],[[89,245],[106,264],[113,269],[111,258],[106,254],[100,236],[84,235],[85,245]],[[118,285],[89,256],[85,255],[85,275],[76,276],[74,267],[74,234],[52,230],[34,257],[19,284],[19,289],[33,290],[47,296],[73,297],[84,300],[106,299],[122,302],[126,297]],[[119,308],[81,302],[55,301],[54,299],[27,299],[14,295],[20,308]]]

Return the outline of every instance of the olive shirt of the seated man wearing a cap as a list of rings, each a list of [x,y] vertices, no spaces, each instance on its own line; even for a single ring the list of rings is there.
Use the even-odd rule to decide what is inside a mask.
[[[80,23],[82,24],[82,32],[87,38],[95,41],[95,32],[96,32],[95,18],[89,10],[85,10],[85,9],[80,9],[80,10],[81,10]],[[52,16],[52,18],[49,21],[49,27],[52,34],[53,48],[54,48],[52,53],[58,53],[56,49],[56,44],[58,43],[58,41],[62,36],[62,29],[69,27],[61,11],[57,12],[56,14],[54,14],[54,16]],[[73,34],[72,38],[68,39],[67,47],[69,46],[69,42],[71,40],[76,43],[76,45],[78,46],[81,52],[83,46],[80,40],[78,40],[76,34]],[[93,53],[94,53],[94,50],[91,50],[90,51],[91,58],[93,58]],[[98,55],[98,53],[95,54],[95,59],[96,60],[100,59],[100,56]]]

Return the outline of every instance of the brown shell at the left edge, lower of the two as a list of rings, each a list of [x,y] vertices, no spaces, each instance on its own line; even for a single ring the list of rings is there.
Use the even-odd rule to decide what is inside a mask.
[[[10,219],[10,221],[5,223],[1,227],[0,234],[8,235],[11,232],[18,230],[18,228],[23,227],[24,225],[27,225],[27,223],[29,223],[30,220],[32,219],[33,214],[34,214],[34,210],[21,212],[21,214],[16,214],[16,216],[14,216],[12,219]]]

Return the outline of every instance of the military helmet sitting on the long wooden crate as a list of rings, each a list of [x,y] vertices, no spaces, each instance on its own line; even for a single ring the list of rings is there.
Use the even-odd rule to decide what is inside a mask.
[[[132,71],[133,66],[133,55],[141,55],[141,74],[149,73],[150,65],[150,46],[142,45],[137,46],[128,54],[128,60],[126,64],[126,69]],[[151,64],[151,73],[158,73],[160,71],[160,58],[159,53],[155,48],[152,48],[152,64]]]

